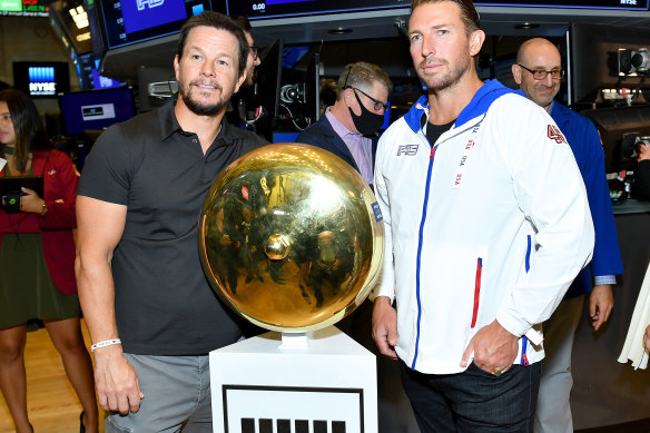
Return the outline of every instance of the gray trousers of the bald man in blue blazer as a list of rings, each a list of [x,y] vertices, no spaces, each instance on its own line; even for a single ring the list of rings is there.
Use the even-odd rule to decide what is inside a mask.
[[[571,353],[583,306],[584,295],[562,301],[551,318],[544,322],[546,355],[542,362],[534,433],[573,433],[569,404],[573,386]]]

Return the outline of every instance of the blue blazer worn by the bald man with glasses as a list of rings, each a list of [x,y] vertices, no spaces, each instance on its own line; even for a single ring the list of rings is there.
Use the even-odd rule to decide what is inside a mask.
[[[622,274],[623,263],[604,173],[604,152],[598,130],[587,117],[558,101],[553,102],[551,117],[573,150],[587,188],[595,232],[593,258],[569,287],[564,296],[564,299],[568,299],[591,292],[593,276]]]

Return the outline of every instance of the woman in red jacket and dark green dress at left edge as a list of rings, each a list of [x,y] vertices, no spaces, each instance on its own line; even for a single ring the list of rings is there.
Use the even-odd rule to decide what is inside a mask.
[[[27,322],[41,319],[83,407],[81,431],[98,431],[92,364],[83,343],[75,281],[72,161],[52,148],[33,102],[0,91],[0,177],[43,176],[31,189],[2,198],[0,208],[0,388],[18,433],[33,431],[27,411]],[[7,193],[3,193],[7,194]]]

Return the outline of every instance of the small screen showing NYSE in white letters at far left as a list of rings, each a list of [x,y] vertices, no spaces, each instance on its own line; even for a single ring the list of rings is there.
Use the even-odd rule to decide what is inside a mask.
[[[32,98],[56,98],[70,90],[70,72],[65,61],[14,61],[13,87]]]

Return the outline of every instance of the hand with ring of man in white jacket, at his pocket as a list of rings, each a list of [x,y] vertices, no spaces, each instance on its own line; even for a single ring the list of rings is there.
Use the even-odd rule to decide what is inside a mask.
[[[474,364],[495,375],[512,366],[519,352],[519,337],[505,331],[496,321],[483,326],[465,348],[461,367],[466,367],[474,353]]]

